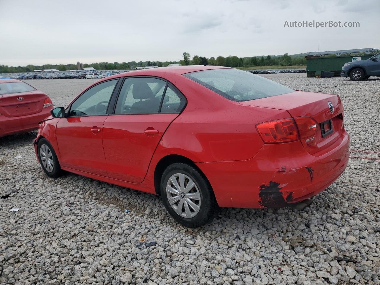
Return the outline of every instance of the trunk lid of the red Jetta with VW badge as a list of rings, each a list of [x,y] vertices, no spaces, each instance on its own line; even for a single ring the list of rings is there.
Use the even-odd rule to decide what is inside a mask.
[[[332,104],[333,112],[329,108],[329,102]],[[323,150],[328,151],[328,147],[340,138],[343,131],[343,105],[338,95],[296,91],[239,103],[247,106],[286,110],[293,118],[312,117],[317,122],[315,135],[301,139],[302,145],[310,154],[322,154]],[[331,125],[329,125],[330,122]]]

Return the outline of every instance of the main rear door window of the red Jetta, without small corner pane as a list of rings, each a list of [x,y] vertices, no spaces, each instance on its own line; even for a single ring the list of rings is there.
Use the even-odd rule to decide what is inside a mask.
[[[166,82],[157,78],[125,78],[115,114],[155,114],[160,109]]]

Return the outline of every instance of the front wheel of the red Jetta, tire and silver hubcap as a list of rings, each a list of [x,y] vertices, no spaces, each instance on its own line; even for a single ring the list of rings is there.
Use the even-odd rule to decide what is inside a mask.
[[[59,165],[57,155],[47,139],[42,138],[38,141],[37,150],[42,169],[47,176],[52,178],[59,177],[62,174],[62,169]]]

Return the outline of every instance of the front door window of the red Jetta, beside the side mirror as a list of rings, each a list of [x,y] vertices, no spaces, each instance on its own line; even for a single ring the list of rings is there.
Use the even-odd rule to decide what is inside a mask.
[[[69,117],[100,116],[107,112],[109,99],[119,79],[105,81],[91,87],[71,104]]]

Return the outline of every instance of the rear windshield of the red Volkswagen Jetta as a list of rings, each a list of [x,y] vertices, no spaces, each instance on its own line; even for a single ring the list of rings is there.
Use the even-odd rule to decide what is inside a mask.
[[[184,74],[232,101],[249,101],[294,92],[277,82],[237,69],[212,69]]]

